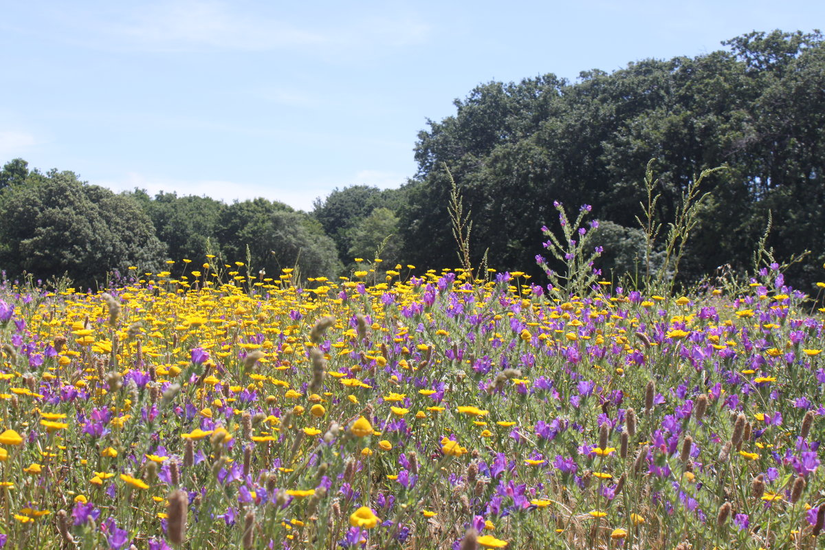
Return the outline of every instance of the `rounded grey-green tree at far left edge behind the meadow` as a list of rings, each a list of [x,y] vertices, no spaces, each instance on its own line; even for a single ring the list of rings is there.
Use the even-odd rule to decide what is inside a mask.
[[[164,253],[134,200],[54,170],[32,172],[3,190],[0,242],[0,262],[10,276],[67,274],[91,287],[112,269],[154,270]]]

